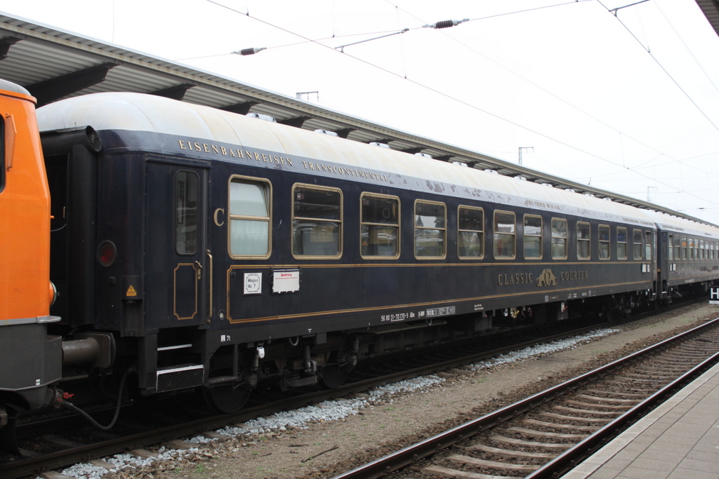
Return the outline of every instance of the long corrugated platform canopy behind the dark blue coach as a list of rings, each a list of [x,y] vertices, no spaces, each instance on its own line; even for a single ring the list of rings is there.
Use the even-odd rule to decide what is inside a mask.
[[[700,5],[702,2],[717,10],[716,0],[697,0]],[[717,21],[715,18],[715,28]],[[280,124],[334,131],[353,141],[387,144],[392,149],[427,154],[438,161],[460,162],[499,175],[520,177],[529,182],[707,223],[633,197],[546,175],[480,152],[323,108],[316,103],[1,13],[0,78],[27,88],[37,98],[38,106],[88,93],[149,93],[234,113],[268,115]]]

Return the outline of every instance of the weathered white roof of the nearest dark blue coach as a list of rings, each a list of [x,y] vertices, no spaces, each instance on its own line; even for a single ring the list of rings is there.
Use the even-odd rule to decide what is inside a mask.
[[[621,203],[160,96],[96,93],[50,103],[38,109],[37,114],[40,131],[89,125],[98,131],[184,136],[341,164],[385,174],[395,187],[464,196],[508,207],[551,210],[559,217],[573,214],[645,226],[656,220],[656,215],[648,210]]]

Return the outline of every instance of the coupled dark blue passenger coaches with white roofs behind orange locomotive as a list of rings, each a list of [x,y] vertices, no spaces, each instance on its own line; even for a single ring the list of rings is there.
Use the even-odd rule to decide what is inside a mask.
[[[38,111],[54,315],[144,394],[336,386],[362,357],[719,278],[719,228],[133,93]]]

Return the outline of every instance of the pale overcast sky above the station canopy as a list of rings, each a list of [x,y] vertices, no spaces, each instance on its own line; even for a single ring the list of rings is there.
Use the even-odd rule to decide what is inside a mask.
[[[695,0],[0,0],[186,63],[719,224],[719,37]],[[470,19],[447,29],[422,28]],[[336,47],[408,28],[403,34]],[[267,50],[232,55],[247,47]]]

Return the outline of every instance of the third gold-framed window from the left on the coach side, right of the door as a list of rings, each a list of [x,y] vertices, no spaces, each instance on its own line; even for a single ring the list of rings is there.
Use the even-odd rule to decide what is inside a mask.
[[[360,254],[362,258],[398,258],[400,255],[400,200],[363,193]]]

